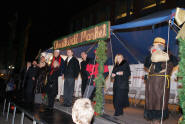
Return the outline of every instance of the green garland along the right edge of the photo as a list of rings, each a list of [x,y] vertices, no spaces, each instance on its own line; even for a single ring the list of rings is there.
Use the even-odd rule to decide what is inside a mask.
[[[179,72],[178,76],[182,77],[180,82],[182,83],[182,88],[178,90],[179,98],[180,98],[180,106],[182,108],[182,120],[180,120],[180,124],[185,124],[185,39],[179,38]]]

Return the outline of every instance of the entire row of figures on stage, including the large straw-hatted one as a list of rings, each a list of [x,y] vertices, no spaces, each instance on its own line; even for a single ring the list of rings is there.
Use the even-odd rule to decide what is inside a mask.
[[[27,63],[22,83],[22,87],[25,88],[26,101],[33,101],[34,92],[46,92],[48,95],[48,106],[53,108],[55,97],[58,94],[58,77],[61,76],[64,78],[64,102],[62,105],[71,107],[75,79],[79,73],[82,78],[82,97],[93,100],[93,93],[96,90],[94,79],[98,75],[98,63],[95,61],[96,59],[88,58],[85,52],[81,53],[82,62],[79,63],[73,54],[73,51],[68,49],[67,58],[64,61],[60,56],[60,51],[54,50],[54,56],[50,65],[47,65],[44,56],[41,56],[39,64],[36,61],[33,61],[32,66],[31,63]],[[169,77],[173,67],[177,64],[177,59],[166,52],[165,40],[159,37],[155,38],[150,49],[150,55],[146,58],[144,64],[148,71],[148,76],[145,79],[146,100],[144,117],[152,120],[152,123],[159,123],[162,113],[163,119],[168,117]],[[104,78],[108,75],[108,66],[104,65]],[[128,62],[122,54],[117,54],[111,73],[111,77],[114,79],[114,116],[123,115],[123,108],[129,106],[130,75],[131,71]],[[102,89],[102,92],[104,92],[104,89]]]

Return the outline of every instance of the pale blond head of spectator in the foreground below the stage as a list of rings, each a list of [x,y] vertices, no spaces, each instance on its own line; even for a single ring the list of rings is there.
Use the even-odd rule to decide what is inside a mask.
[[[90,124],[94,109],[88,98],[77,99],[72,108],[72,119],[76,124]]]

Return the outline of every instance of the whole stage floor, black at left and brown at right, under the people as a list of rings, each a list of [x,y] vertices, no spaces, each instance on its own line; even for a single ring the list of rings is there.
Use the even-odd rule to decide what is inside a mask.
[[[74,98],[73,102],[76,99],[77,98]],[[132,99],[129,99],[129,101],[131,100]],[[149,124],[150,122],[145,120],[143,117],[144,101],[136,101],[136,102],[137,102],[136,106],[134,102],[132,102],[133,104],[130,104],[128,108],[124,109],[124,115],[115,117],[113,116],[114,108],[112,104],[112,96],[105,96],[104,114],[99,117],[94,117],[92,124]],[[53,110],[49,110],[47,105],[45,104],[26,105],[21,102],[12,102],[11,105],[15,104],[17,108],[17,111],[16,111],[17,115],[18,114],[20,115],[21,112],[24,112],[25,116],[27,116],[30,120],[35,119],[37,123],[74,124],[71,117],[72,108],[63,107],[61,106],[61,103],[62,101],[60,102],[56,101]],[[7,106],[8,106],[8,101],[6,103],[6,108]],[[170,116],[166,121],[164,121],[163,124],[176,124],[181,115],[178,109],[179,109],[178,106],[169,104]],[[7,113],[7,110],[5,111],[5,115],[3,116],[3,119],[6,119],[6,115],[7,115],[6,113]],[[10,115],[11,114],[13,115],[13,111],[10,111]],[[16,119],[20,120],[20,117],[15,116],[15,120]],[[10,116],[9,122],[11,120],[12,120],[12,117]],[[29,123],[26,123],[26,124],[29,124]]]

